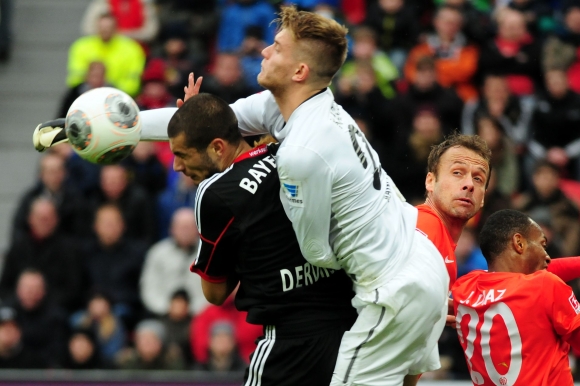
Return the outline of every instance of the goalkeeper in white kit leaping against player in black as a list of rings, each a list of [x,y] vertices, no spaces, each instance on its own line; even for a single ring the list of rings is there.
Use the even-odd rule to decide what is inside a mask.
[[[306,260],[353,280],[359,316],[342,339],[331,385],[413,385],[416,374],[439,368],[449,283],[443,259],[327,88],[346,57],[347,30],[293,7],[278,22],[258,75],[268,91],[231,107],[244,135],[270,133],[282,143],[280,198]],[[167,139],[174,112],[142,112],[143,139]],[[257,175],[246,184],[260,182]]]

